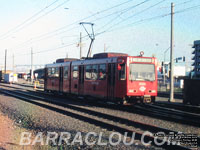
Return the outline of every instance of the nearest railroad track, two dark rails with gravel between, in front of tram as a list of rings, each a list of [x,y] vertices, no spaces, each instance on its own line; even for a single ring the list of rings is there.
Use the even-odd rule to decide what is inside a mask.
[[[136,122],[129,119],[124,119],[124,118],[116,117],[113,115],[101,113],[98,111],[93,111],[93,110],[77,107],[74,105],[69,105],[62,101],[57,101],[57,100],[53,100],[53,99],[49,99],[49,98],[45,98],[41,96],[35,96],[35,95],[31,95],[30,93],[26,93],[22,91],[15,91],[15,90],[8,90],[8,89],[0,89],[0,91],[4,94],[17,97],[18,99],[24,100],[26,102],[30,102],[40,107],[47,108],[47,109],[62,113],[64,115],[72,116],[79,120],[98,125],[110,131],[114,130],[121,134],[124,134],[125,132],[127,132],[128,133],[127,135],[130,137],[132,137],[132,134],[135,133],[136,139],[141,139],[142,134],[144,133],[144,130],[148,130],[151,133],[164,132],[166,135],[169,133],[177,134],[176,131],[172,131],[169,129],[155,127],[155,126],[144,124],[141,122]],[[60,107],[58,108],[57,106],[62,106],[62,108]],[[87,114],[87,116],[85,114]],[[98,119],[96,117],[98,117]],[[110,123],[110,121],[114,123]],[[134,129],[140,128],[140,131],[133,130],[132,128]],[[156,137],[154,135],[145,137],[146,140],[152,141],[153,145],[156,145],[154,143],[155,138]],[[158,139],[158,141],[162,142],[162,139]],[[171,144],[168,145],[168,141],[165,141],[162,147],[166,149],[181,149],[181,150],[189,149],[188,147],[183,147],[180,145],[171,145]]]

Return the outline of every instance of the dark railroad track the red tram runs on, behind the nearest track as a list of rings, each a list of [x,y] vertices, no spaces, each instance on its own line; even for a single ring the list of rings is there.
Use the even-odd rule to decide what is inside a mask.
[[[21,88],[21,87],[13,87],[13,86],[9,86],[4,84],[3,86],[8,87],[8,88],[14,88],[14,89],[23,89],[23,90],[27,90],[25,88]],[[53,95],[51,93],[46,93],[43,91],[33,91],[33,90],[27,90],[29,92],[32,92],[34,95],[46,95],[49,97],[54,97],[54,98],[58,98],[58,100],[64,100],[66,99],[66,97],[63,97],[62,95]],[[77,99],[77,97],[67,97],[68,100],[72,100],[72,101],[78,101],[79,103],[86,103],[86,101],[83,102],[83,99]],[[149,117],[153,117],[153,118],[158,118],[161,120],[166,120],[166,121],[170,121],[170,122],[175,122],[175,123],[181,123],[181,124],[185,124],[185,125],[190,125],[190,126],[195,126],[195,127],[199,127],[200,126],[200,118],[199,116],[196,116],[196,118],[193,116],[193,114],[187,114],[187,115],[183,115],[185,114],[185,112],[177,112],[177,111],[172,111],[170,109],[163,109],[162,107],[156,107],[155,106],[151,106],[151,105],[135,105],[135,106],[121,106],[121,105],[113,105],[113,104],[107,104],[107,103],[101,103],[101,101],[99,101],[97,103],[97,101],[87,101],[87,105],[91,105],[91,106],[96,106],[96,107],[103,107],[103,108],[108,108],[108,109],[114,109],[114,110],[120,110],[120,111],[125,111],[125,112],[130,112],[130,113],[137,113],[140,115],[144,115],[144,116],[149,116]]]

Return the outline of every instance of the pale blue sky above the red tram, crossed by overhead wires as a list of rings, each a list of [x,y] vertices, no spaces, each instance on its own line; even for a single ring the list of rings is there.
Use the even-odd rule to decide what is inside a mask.
[[[6,0],[0,1],[0,66],[5,49],[10,68],[13,55],[16,65],[30,64],[31,47],[35,64],[52,63],[67,54],[79,58],[80,32],[86,56],[90,40],[81,21],[94,23],[93,54],[103,52],[105,44],[107,52],[144,51],[162,61],[170,45],[170,16],[145,19],[169,14],[171,2],[175,12],[185,10],[174,16],[175,57],[186,56],[191,62],[191,44],[200,40],[200,7],[191,7],[200,6],[199,0]]]

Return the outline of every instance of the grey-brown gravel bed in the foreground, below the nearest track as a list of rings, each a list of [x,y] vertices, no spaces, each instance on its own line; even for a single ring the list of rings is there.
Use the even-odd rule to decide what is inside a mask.
[[[69,143],[71,143],[77,135],[77,132],[80,132],[83,145],[80,142],[75,142],[74,145],[66,145],[64,143],[60,147],[50,144],[51,149],[161,149],[154,146],[144,146],[140,141],[135,141],[131,146],[126,146],[122,142],[116,146],[112,146],[109,144],[109,136],[112,134],[111,131],[107,131],[98,125],[89,124],[3,94],[0,94],[0,111],[14,120],[17,126],[33,131],[35,135],[39,132],[42,132],[43,135],[47,135],[48,132],[56,132],[58,134],[61,132],[69,132],[72,137],[69,140]],[[97,144],[87,145],[84,139],[88,132],[95,132],[97,135],[102,134],[102,143],[108,144],[105,146],[99,146]],[[112,139],[113,142],[117,142],[118,136],[115,135]],[[89,141],[98,141],[98,136],[91,136]]]

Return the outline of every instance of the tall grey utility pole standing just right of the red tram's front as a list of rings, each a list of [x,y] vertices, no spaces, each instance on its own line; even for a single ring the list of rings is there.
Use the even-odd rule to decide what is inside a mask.
[[[174,102],[174,3],[171,3],[170,102]]]

